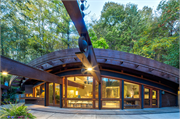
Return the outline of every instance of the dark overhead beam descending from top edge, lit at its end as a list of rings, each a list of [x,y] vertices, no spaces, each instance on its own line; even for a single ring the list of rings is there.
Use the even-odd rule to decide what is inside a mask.
[[[100,70],[78,2],[77,0],[62,0],[62,2],[80,35],[79,48],[81,52],[77,52],[76,56],[86,69],[93,68],[90,73],[100,83]],[[82,50],[83,48],[87,48],[87,50]]]

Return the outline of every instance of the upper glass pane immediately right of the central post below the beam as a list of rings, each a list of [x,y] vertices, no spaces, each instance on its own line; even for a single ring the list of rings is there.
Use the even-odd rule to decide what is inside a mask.
[[[102,78],[102,98],[120,98],[119,84],[119,80]]]

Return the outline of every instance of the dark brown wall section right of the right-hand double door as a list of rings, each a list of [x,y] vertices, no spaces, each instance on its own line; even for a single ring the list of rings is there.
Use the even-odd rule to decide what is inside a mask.
[[[162,107],[176,106],[176,96],[165,92],[162,94]]]

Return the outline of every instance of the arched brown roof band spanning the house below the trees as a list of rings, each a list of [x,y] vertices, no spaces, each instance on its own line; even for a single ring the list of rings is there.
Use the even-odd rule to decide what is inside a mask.
[[[79,52],[79,49],[73,48],[55,51],[31,61],[29,65],[48,70],[63,64],[80,63],[75,52]],[[129,68],[175,83],[179,82],[179,69],[170,65],[121,51],[94,48],[94,52],[97,62],[100,64]]]

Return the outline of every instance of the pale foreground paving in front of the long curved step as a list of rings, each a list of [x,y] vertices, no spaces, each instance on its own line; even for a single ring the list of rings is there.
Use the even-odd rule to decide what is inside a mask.
[[[37,119],[179,119],[179,113],[141,114],[141,115],[96,115],[62,114],[31,110]]]

